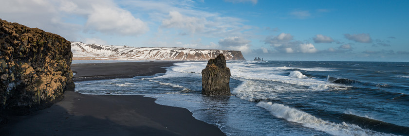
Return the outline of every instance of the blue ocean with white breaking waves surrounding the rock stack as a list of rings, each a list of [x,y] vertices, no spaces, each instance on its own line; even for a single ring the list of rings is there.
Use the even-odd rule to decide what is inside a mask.
[[[157,98],[227,136],[409,136],[408,62],[228,61],[230,97],[201,94],[206,63],[75,82],[75,91]]]

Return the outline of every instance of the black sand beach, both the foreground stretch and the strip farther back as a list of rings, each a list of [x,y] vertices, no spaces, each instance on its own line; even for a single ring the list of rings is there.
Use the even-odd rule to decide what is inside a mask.
[[[99,79],[94,78],[95,75],[104,79],[127,74],[151,75],[166,70],[160,67],[171,65],[171,62],[73,64],[73,70],[78,77],[95,80]],[[116,71],[118,75],[113,74]],[[143,96],[83,95],[66,91],[64,99],[49,108],[11,118],[10,123],[0,128],[0,136],[225,135],[216,126],[193,118],[185,108],[159,105],[154,101]]]

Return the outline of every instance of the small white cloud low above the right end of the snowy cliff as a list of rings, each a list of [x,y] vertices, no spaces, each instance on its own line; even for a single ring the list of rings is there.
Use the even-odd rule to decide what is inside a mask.
[[[223,39],[219,39],[220,46],[226,47],[229,50],[242,51],[243,53],[251,52],[250,42],[251,42],[250,40],[238,36],[229,36]]]

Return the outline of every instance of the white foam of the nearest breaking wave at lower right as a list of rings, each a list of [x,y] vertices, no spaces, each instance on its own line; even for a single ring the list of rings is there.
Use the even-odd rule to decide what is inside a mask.
[[[374,132],[353,124],[342,122],[340,124],[318,119],[306,112],[272,102],[259,102],[257,106],[267,109],[272,115],[291,122],[297,122],[304,127],[313,128],[335,136],[394,136]]]

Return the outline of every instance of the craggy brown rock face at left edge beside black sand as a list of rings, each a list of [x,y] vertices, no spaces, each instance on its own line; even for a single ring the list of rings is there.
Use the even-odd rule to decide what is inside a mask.
[[[70,44],[57,34],[0,19],[0,114],[27,114],[74,90]]]

